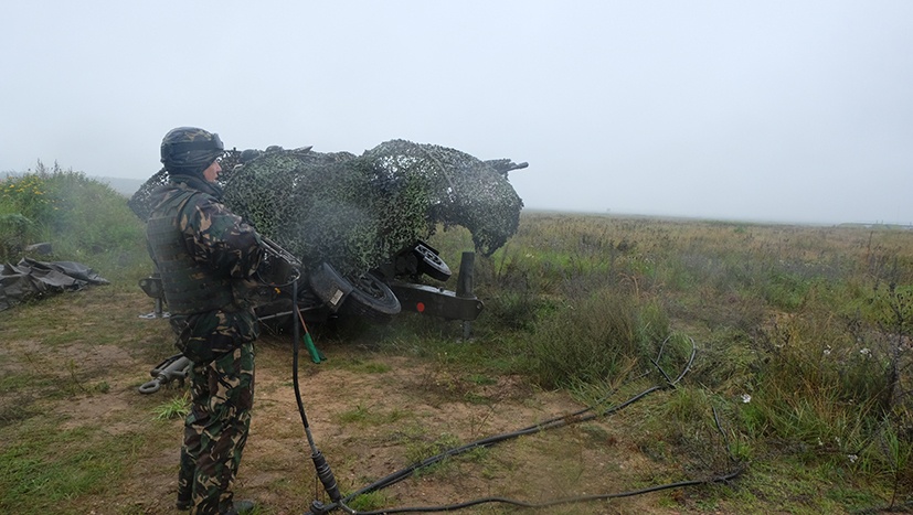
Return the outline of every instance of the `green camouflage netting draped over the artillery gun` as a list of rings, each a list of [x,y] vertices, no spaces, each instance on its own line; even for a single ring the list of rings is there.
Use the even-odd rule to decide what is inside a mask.
[[[359,157],[310,148],[231,151],[222,164],[232,211],[305,265],[328,261],[343,275],[379,266],[437,224],[466,227],[476,249],[491,255],[517,232],[523,206],[507,174],[524,163],[404,140]],[[142,219],[151,191],[167,181],[162,170],[130,200]]]

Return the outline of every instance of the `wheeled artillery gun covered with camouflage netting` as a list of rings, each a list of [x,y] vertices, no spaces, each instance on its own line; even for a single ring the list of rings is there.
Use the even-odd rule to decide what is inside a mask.
[[[342,313],[383,322],[401,309],[475,320],[482,303],[471,291],[473,253],[460,262],[458,291],[429,287],[421,278],[446,281],[452,272],[425,240],[439,225],[461,225],[476,250],[491,255],[517,232],[523,205],[508,173],[527,163],[434,144],[392,140],[361,155],[234,149],[222,159],[223,202],[297,259],[295,302],[317,320]],[[168,179],[161,170],[134,194],[137,216],[148,218],[151,192]],[[156,275],[140,286],[157,301],[150,316],[166,315]],[[261,320],[291,313],[288,291],[252,292]]]

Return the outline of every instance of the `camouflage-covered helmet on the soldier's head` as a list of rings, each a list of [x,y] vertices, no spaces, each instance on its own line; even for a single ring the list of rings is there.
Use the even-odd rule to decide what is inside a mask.
[[[161,162],[173,174],[200,174],[224,152],[219,135],[197,127],[171,129],[161,140]]]

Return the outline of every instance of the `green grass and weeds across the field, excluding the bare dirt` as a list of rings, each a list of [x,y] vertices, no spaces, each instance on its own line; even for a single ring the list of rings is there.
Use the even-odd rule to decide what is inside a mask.
[[[0,249],[6,259],[19,256],[15,242],[49,237],[60,242],[51,258],[84,261],[112,283],[0,312],[0,511],[83,513],[85,501],[73,500],[116,498],[112,478],[129,473],[130,460],[163,438],[156,426],[178,423],[185,398],[180,390],[164,403],[140,398],[135,408],[150,421],[162,420],[116,439],[102,422],[71,428],[65,417],[45,414],[55,403],[112,398],[123,383],[105,356],[157,363],[171,354],[171,335],[164,324],[150,331],[136,316],[149,310],[136,287],[149,264],[141,224],[123,197],[59,167],[7,181],[13,182],[0,183],[0,236],[11,243]],[[66,221],[55,215],[64,206]],[[459,227],[429,243],[455,271],[471,248]],[[445,287],[455,289],[456,278]],[[475,292],[486,308],[468,341],[459,322],[415,316],[384,326],[311,328],[318,346],[351,345],[321,369],[388,377],[393,374],[384,357],[418,360],[427,366],[426,376],[414,378],[416,398],[435,407],[458,401],[495,410],[500,399],[489,389],[502,380],[608,407],[690,366],[675,388],[631,405],[613,427],[588,423],[571,431],[576,444],[543,438],[516,449],[576,455],[586,447],[668,465],[656,476],[644,474],[643,485],[746,466],[729,485],[663,494],[657,502],[668,509],[910,506],[909,230],[530,212],[505,247],[490,258],[476,256]],[[691,341],[698,357],[689,365]],[[270,357],[277,353],[266,357],[278,360]],[[141,379],[134,382],[130,387]],[[269,398],[276,391],[264,394],[264,403],[276,403]],[[459,443],[452,433],[422,427],[407,407],[380,408],[370,400],[335,422],[385,430],[378,441],[403,446],[410,462]],[[616,428],[636,450],[615,448]],[[460,460],[423,473],[450,478],[467,460],[492,479],[522,470],[487,454]],[[561,466],[569,484],[586,473],[573,463]],[[274,487],[285,492],[293,484]],[[385,493],[362,497],[364,508],[391,500]],[[144,509],[123,506],[117,513]],[[503,513],[498,509],[491,513]]]

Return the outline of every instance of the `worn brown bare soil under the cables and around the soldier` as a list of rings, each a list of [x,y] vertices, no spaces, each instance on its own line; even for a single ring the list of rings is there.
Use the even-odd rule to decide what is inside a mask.
[[[148,328],[148,334],[134,334],[126,344],[75,341],[50,348],[36,339],[4,341],[0,372],[31,356],[25,361],[53,369],[59,380],[82,385],[63,399],[32,399],[44,412],[60,416],[65,428],[100,427],[112,439],[141,436],[144,443],[132,450],[128,470],[113,479],[120,483],[116,494],[74,500],[77,511],[180,513],[173,504],[182,421],[156,420],[153,409],[181,396],[183,388],[176,384],[152,395],[137,390],[156,365],[142,345],[167,339],[169,330],[160,319],[135,322],[132,316],[147,308],[145,299],[130,297],[125,302],[113,316],[124,316],[124,323],[134,328]],[[83,323],[94,322],[88,318]],[[436,360],[390,354],[369,343],[318,341],[328,361],[314,364],[302,351],[299,366],[314,438],[343,494],[436,453],[431,449],[442,451],[514,431],[582,407],[567,393],[542,391],[521,377],[480,380]],[[73,365],[61,366],[65,363]],[[99,383],[107,385],[104,393],[92,387]],[[682,471],[675,463],[641,452],[644,438],[635,415],[513,439],[450,458],[382,490],[382,507],[446,505],[488,496],[535,503],[681,480]],[[294,395],[291,345],[285,337],[266,334],[257,344],[255,410],[235,492],[238,498],[256,500],[266,514],[305,513],[314,500],[329,503],[315,476]],[[703,496],[700,490],[672,490],[532,513],[702,512]],[[482,504],[463,512],[514,509]]]

